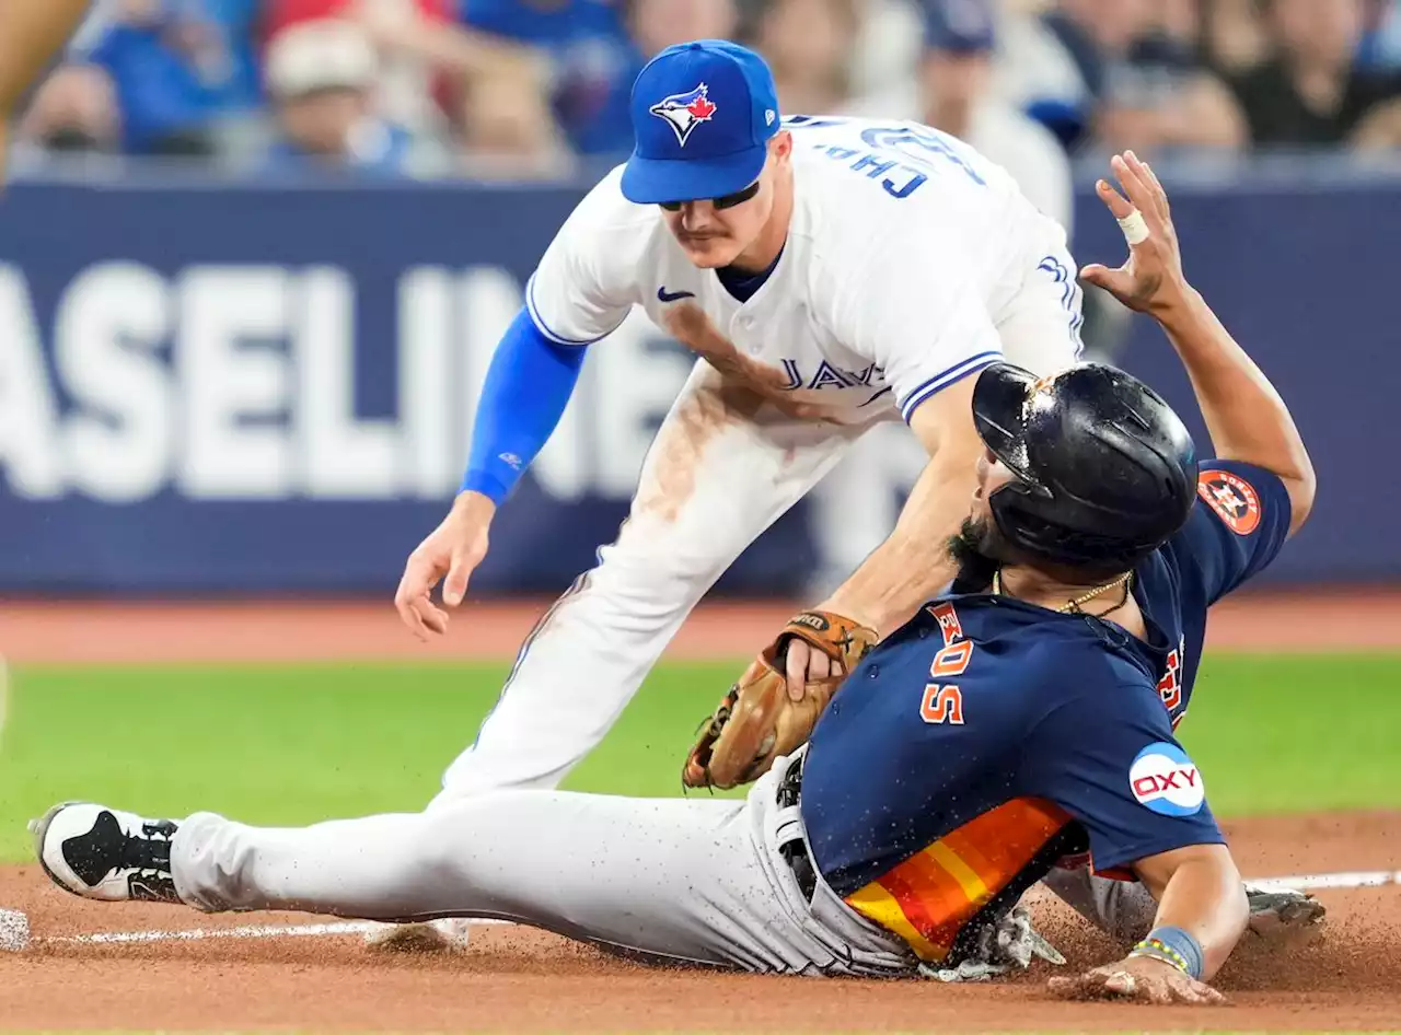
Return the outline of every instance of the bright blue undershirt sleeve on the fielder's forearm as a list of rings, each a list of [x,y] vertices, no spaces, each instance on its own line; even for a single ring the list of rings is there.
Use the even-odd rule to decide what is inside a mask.
[[[502,336],[482,385],[462,489],[504,500],[555,431],[584,349],[555,345],[523,308]]]

